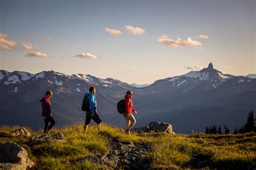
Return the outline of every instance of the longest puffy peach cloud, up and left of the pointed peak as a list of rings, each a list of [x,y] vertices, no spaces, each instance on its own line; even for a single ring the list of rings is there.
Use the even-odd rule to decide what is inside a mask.
[[[181,38],[177,38],[176,40],[169,39],[168,36],[162,35],[158,38],[158,42],[160,44],[169,45],[169,46],[197,46],[201,47],[202,44],[196,40],[192,40],[191,37],[188,37],[187,40],[182,40]]]

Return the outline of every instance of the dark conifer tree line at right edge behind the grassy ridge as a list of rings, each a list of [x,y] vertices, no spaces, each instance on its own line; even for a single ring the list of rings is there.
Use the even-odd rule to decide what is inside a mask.
[[[254,125],[255,120],[256,119],[254,119],[253,110],[252,110],[248,114],[245,125],[239,128],[235,127],[234,134],[256,132],[256,126]],[[218,129],[217,129],[217,126],[205,127],[205,134],[229,134],[229,133],[230,133],[230,129],[226,125],[224,127],[224,132],[221,131],[221,126],[219,126]]]

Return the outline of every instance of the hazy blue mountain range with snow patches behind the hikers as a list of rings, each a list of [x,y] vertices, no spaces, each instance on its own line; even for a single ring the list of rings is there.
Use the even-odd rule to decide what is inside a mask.
[[[256,79],[223,74],[212,63],[200,71],[160,79],[145,87],[135,87],[117,79],[101,79],[86,74],[66,75],[55,71],[37,74],[0,71],[0,125],[42,128],[41,103],[46,90],[52,90],[52,114],[57,126],[84,121],[80,110],[83,94],[97,89],[100,117],[109,124],[124,126],[116,104],[127,90],[133,91],[136,126],[150,121],[173,125],[177,133],[204,132],[205,126],[227,125],[231,130],[245,123],[256,108]]]

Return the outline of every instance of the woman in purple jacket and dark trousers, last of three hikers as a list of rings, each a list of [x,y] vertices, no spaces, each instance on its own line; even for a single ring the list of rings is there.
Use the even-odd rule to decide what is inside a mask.
[[[42,117],[44,119],[44,133],[49,133],[52,126],[55,125],[55,121],[51,115],[51,102],[50,98],[52,97],[52,91],[48,90],[45,92],[45,96],[40,100],[42,103]],[[49,126],[49,123],[50,126]]]

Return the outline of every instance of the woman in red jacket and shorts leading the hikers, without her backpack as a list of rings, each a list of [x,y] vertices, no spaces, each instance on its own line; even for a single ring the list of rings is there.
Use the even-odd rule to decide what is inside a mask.
[[[125,127],[125,132],[127,134],[130,134],[130,130],[132,126],[136,123],[136,120],[134,116],[132,115],[132,112],[137,114],[136,110],[132,108],[132,91],[127,91],[125,95],[125,111],[123,113],[123,116],[126,121],[126,127]]]

